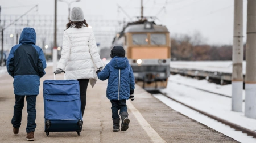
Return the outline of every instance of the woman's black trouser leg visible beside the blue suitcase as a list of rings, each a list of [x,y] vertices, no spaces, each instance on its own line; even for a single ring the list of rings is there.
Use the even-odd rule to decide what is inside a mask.
[[[78,79],[80,88],[81,110],[82,116],[84,116],[84,110],[86,106],[86,91],[89,83],[89,79]]]

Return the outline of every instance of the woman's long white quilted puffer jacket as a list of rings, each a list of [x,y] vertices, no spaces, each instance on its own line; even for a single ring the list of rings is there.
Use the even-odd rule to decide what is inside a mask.
[[[90,79],[90,84],[92,80],[95,84],[95,67],[101,68],[103,63],[97,51],[93,30],[85,25],[79,29],[71,25],[64,31],[61,58],[57,68],[67,72],[67,80]]]

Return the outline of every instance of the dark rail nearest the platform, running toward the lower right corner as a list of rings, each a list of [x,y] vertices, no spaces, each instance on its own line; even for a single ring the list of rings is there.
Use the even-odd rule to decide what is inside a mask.
[[[246,133],[248,136],[253,136],[253,138],[256,138],[256,132],[251,131],[250,129],[241,127],[240,125],[231,123],[231,122],[229,122],[228,120],[224,120],[224,119],[218,118],[217,116],[214,116],[214,115],[209,114],[209,113],[207,113],[207,112],[204,112],[204,111],[201,111],[201,110],[199,110],[199,109],[196,109],[195,107],[189,106],[189,105],[187,105],[187,104],[185,104],[185,103],[183,103],[183,102],[177,101],[176,99],[174,99],[174,98],[168,96],[166,93],[162,93],[162,92],[160,92],[160,91],[158,91],[158,93],[159,93],[159,94],[162,94],[163,96],[166,96],[167,98],[171,99],[172,101],[175,101],[175,102],[180,103],[181,105],[184,105],[184,106],[186,106],[186,107],[188,107],[188,108],[190,108],[190,109],[192,109],[192,110],[195,110],[195,111],[197,111],[197,112],[200,112],[201,114],[206,115],[206,116],[208,116],[209,118],[212,118],[212,119],[214,119],[214,120],[217,120],[218,122],[221,122],[221,123],[223,123],[223,124],[225,124],[225,125],[228,125],[229,127],[236,129],[237,131],[242,131],[243,133]],[[155,93],[152,93],[152,94],[155,94]]]

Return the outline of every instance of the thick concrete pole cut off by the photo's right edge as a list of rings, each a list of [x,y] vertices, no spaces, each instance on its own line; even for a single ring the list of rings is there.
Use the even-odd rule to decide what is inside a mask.
[[[245,116],[256,119],[256,1],[247,4]]]

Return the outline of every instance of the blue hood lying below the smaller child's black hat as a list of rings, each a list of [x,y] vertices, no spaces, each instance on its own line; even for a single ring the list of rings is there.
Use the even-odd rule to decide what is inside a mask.
[[[117,69],[124,69],[129,66],[129,61],[126,57],[115,56],[110,60],[110,65]]]

